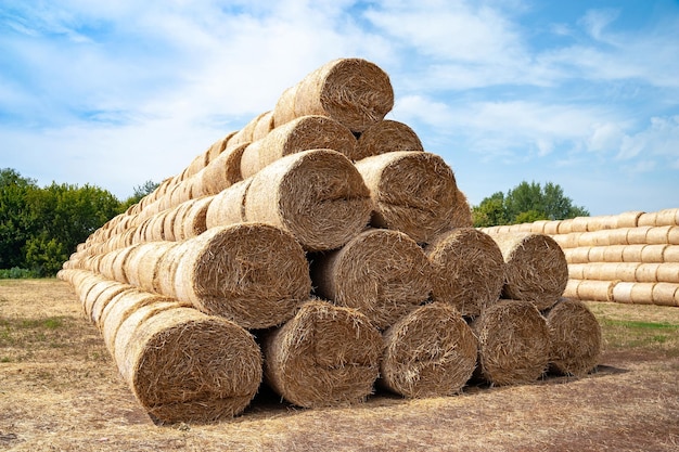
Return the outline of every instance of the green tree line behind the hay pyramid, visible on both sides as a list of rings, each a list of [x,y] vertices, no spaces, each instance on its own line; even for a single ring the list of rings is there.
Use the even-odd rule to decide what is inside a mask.
[[[146,181],[119,201],[98,186],[40,188],[13,169],[0,170],[0,277],[54,275],[79,243],[157,186]],[[589,216],[551,182],[522,182],[507,194],[494,193],[472,214],[476,228]]]

